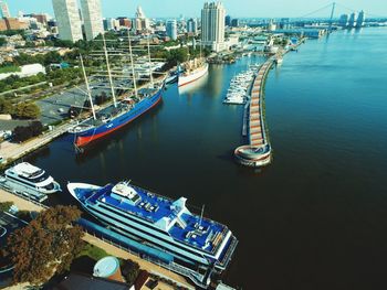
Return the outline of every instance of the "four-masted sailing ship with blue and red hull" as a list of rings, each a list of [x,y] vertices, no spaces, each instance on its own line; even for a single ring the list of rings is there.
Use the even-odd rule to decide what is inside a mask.
[[[148,52],[149,52],[149,64],[150,64],[149,47],[148,47]],[[125,125],[129,123],[137,117],[142,116],[146,111],[154,108],[157,104],[160,103],[163,97],[165,84],[163,82],[160,83],[154,82],[150,65],[147,66],[148,67],[147,71],[149,74],[148,78],[140,78],[140,76],[136,77],[136,75],[138,75],[138,72],[136,72],[134,68],[130,39],[129,39],[129,58],[130,58],[130,66],[132,66],[132,75],[128,76],[128,78],[130,78],[134,85],[134,93],[130,93],[132,95],[129,97],[126,97],[121,101],[118,101],[116,98],[105,40],[104,40],[104,56],[106,61],[107,77],[108,77],[111,93],[113,97],[113,104],[104,107],[98,111],[96,111],[94,108],[93,97],[91,94],[86,71],[83,64],[83,58],[82,56],[80,57],[82,71],[85,78],[86,90],[88,95],[88,103],[91,104],[91,110],[93,115],[86,119],[79,121],[76,125],[74,125],[72,128],[69,129],[69,132],[74,135],[74,144],[76,148],[85,147],[91,142],[93,142],[94,140],[101,139],[112,133],[113,131],[118,130],[119,128],[124,127]],[[149,80],[150,84],[146,87],[137,89],[137,85],[136,85],[137,80],[145,80],[145,79]]]

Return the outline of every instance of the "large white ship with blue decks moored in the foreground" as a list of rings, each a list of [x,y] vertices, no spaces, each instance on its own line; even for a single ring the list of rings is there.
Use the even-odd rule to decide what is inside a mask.
[[[121,235],[169,253],[192,269],[224,270],[238,239],[220,223],[192,214],[187,200],[156,195],[128,182],[69,183],[83,208]]]

